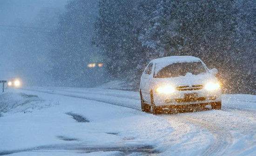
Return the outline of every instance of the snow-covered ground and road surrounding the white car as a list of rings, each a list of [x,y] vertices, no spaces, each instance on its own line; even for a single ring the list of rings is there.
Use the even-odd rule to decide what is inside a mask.
[[[0,94],[0,155],[256,155],[256,96],[222,110],[152,115],[138,92],[24,88]]]

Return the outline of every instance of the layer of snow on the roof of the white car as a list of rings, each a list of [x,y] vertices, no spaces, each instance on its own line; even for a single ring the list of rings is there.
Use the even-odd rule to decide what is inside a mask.
[[[167,65],[175,64],[175,63],[182,63],[182,62],[199,62],[201,61],[200,58],[196,58],[194,56],[168,56],[164,58],[156,58],[150,61],[150,63],[155,63],[155,72],[157,73],[163,67]]]

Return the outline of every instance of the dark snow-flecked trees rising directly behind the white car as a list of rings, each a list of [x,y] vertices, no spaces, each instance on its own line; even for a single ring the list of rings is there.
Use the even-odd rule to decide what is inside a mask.
[[[224,90],[255,93],[253,0],[100,0],[94,44],[108,72],[138,87],[153,58],[193,55],[219,69]]]

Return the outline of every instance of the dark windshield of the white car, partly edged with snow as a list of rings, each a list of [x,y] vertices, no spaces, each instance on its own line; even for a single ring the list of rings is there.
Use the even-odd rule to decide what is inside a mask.
[[[155,74],[155,78],[179,77],[185,76],[187,73],[198,75],[205,72],[206,69],[201,62],[183,62],[163,67]]]

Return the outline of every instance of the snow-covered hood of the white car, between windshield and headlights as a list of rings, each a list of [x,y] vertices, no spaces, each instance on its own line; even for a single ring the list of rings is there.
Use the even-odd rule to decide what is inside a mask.
[[[193,75],[187,73],[185,76],[174,77],[174,78],[154,78],[155,85],[159,84],[171,84],[173,86],[185,86],[185,85],[198,85],[206,84],[207,82],[217,82],[217,78],[211,73]]]

